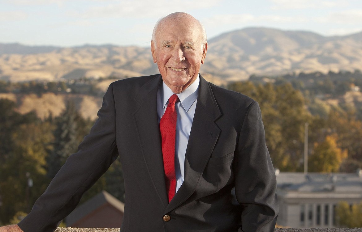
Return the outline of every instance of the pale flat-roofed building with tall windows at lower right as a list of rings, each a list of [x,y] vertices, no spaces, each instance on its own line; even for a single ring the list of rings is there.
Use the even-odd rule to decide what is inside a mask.
[[[336,205],[362,201],[362,171],[357,173],[278,172],[277,224],[291,228],[332,228]]]

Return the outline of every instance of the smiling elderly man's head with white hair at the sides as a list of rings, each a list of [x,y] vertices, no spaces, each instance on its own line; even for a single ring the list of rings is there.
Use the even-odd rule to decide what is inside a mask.
[[[157,63],[163,81],[174,93],[181,93],[196,80],[206,51],[205,29],[190,14],[169,14],[153,29],[153,62]]]

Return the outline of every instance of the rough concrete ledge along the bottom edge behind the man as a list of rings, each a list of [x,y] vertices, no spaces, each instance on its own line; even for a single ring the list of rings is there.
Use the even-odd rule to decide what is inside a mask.
[[[59,227],[55,232],[119,232],[119,229]],[[362,228],[275,228],[274,232],[362,232]]]

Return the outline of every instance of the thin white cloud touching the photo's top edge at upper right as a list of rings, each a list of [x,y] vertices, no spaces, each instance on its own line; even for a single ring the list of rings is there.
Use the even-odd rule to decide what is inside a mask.
[[[325,9],[349,5],[348,0],[271,0],[272,9]]]

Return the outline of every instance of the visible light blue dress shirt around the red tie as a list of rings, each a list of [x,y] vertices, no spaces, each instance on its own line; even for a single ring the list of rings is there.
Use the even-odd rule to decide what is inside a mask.
[[[177,94],[180,99],[176,103],[177,123],[176,123],[176,141],[175,141],[175,172],[176,172],[176,192],[184,182],[185,177],[185,154],[189,142],[192,121],[194,119],[195,108],[200,78],[187,87],[182,93]],[[157,92],[157,115],[160,123],[161,117],[166,111],[168,99],[173,94],[172,90],[165,85],[160,86]]]

